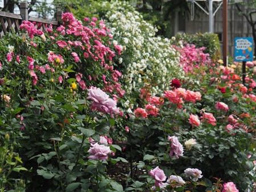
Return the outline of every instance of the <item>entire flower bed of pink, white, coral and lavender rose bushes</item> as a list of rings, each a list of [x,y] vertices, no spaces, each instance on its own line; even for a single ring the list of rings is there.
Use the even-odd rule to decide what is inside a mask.
[[[137,12],[116,14],[115,24],[147,26]],[[254,62],[243,85],[240,63],[213,63],[203,48],[137,31],[143,43],[125,49],[97,18],[62,19],[0,39],[1,190],[253,190]],[[116,164],[125,183],[109,176]]]

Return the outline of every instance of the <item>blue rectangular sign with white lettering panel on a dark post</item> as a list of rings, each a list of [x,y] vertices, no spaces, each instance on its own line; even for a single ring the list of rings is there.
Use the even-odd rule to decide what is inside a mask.
[[[234,48],[235,61],[253,61],[253,37],[236,37]]]

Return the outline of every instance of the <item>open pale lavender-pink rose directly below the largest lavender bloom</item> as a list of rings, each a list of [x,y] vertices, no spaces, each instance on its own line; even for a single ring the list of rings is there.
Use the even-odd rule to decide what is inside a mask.
[[[90,144],[92,147],[88,150],[92,155],[89,156],[90,159],[96,160],[108,160],[109,153],[111,152],[110,148],[105,145],[99,145],[98,143]]]

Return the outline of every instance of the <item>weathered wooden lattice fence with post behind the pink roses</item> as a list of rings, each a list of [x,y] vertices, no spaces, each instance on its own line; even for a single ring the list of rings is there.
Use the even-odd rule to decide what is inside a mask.
[[[42,31],[46,31],[46,28],[49,25],[52,25],[53,27],[59,26],[59,21],[61,19],[62,14],[63,11],[57,11],[56,20],[46,20],[28,16],[28,4],[27,2],[21,2],[20,15],[0,11],[0,37],[5,35],[7,32],[19,34],[19,26],[20,24],[22,24],[23,20],[35,22],[36,28]]]

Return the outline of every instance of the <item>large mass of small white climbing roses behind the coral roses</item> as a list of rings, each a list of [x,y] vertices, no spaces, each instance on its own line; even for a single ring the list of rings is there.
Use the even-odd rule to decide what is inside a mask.
[[[120,11],[115,8],[123,6],[119,2],[113,2],[112,6],[107,17],[114,39],[123,46],[119,63],[122,61],[126,66],[123,76],[126,92],[150,86],[151,94],[160,94],[168,89],[172,79],[182,79],[179,53],[172,48],[171,40],[155,37],[156,28],[143,20],[139,12]]]

